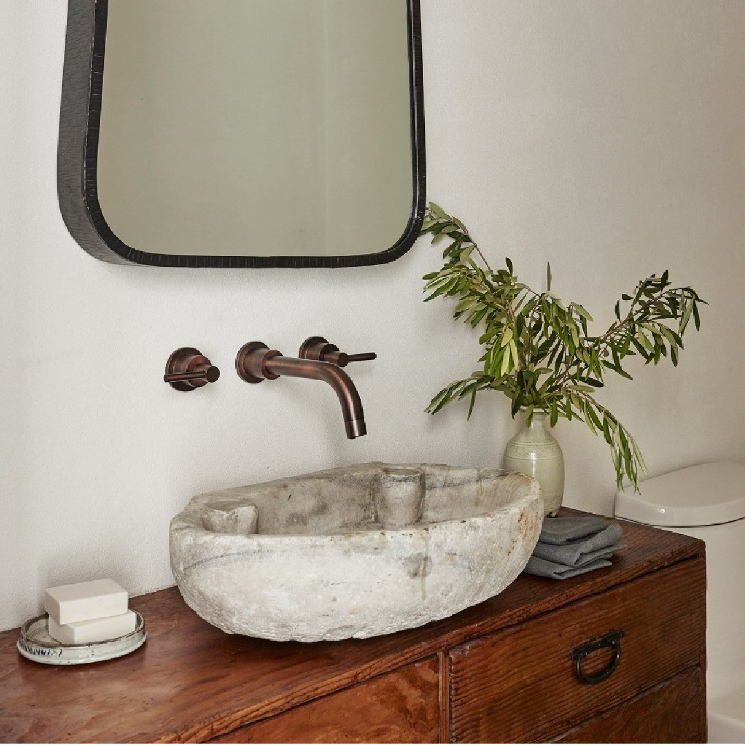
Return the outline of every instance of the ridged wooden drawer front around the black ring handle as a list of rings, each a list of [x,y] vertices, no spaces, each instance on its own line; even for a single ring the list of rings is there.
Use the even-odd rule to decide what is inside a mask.
[[[572,651],[612,631],[624,632],[618,667],[597,685],[580,682]],[[694,559],[452,650],[451,738],[550,740],[703,666],[705,645],[706,564]],[[597,676],[614,655],[589,653],[582,672]]]

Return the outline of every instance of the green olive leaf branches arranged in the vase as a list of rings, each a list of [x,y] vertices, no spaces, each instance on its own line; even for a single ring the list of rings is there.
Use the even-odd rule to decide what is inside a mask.
[[[528,423],[535,411],[550,413],[552,427],[559,418],[580,419],[608,443],[618,487],[625,476],[638,489],[638,471],[647,471],[641,451],[595,393],[608,370],[633,379],[623,367],[627,357],[640,356],[645,364],[669,357],[677,365],[688,323],[692,318],[700,328],[699,305],[705,301],[693,288],[673,288],[665,270],[624,294],[615,304],[615,321],[595,336],[589,333],[588,311],[551,291],[550,265],[547,290],[540,293],[518,281],[510,259],[506,268],[492,270],[466,226],[435,203],[422,223],[420,235],[425,234],[446,244],[443,267],[424,276],[425,302],[454,299],[453,316],[484,329],[481,369],[440,390],[426,410],[437,413],[469,399],[470,417],[479,391],[499,390],[510,398],[512,416],[524,410]]]

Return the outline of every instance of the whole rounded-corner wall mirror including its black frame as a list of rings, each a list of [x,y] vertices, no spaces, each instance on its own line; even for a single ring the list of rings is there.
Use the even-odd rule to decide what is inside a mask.
[[[379,264],[425,202],[419,0],[69,0],[58,186],[105,261]]]

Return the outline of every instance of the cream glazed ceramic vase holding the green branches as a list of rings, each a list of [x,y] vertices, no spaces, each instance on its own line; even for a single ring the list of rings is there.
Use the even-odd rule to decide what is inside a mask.
[[[564,497],[564,457],[556,437],[546,428],[546,413],[534,411],[504,448],[504,469],[533,476],[541,485],[545,514],[556,516]]]

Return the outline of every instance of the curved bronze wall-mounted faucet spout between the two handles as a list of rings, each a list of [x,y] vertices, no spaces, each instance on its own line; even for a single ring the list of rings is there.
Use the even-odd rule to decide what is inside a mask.
[[[339,399],[344,416],[344,428],[349,440],[367,434],[360,394],[352,378],[331,362],[283,357],[282,352],[269,349],[260,341],[252,341],[238,350],[235,370],[241,380],[247,383],[276,380],[280,375],[325,381],[334,389]]]

